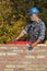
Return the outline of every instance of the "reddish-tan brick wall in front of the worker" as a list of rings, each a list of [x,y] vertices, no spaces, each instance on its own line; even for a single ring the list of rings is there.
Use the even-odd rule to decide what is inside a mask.
[[[0,45],[0,71],[47,71],[47,45]]]

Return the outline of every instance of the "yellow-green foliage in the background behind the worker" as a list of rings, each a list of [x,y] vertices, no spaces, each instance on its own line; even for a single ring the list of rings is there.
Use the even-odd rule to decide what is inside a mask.
[[[32,7],[40,10],[39,16],[47,26],[47,0],[1,0],[0,1],[0,43],[14,39],[28,21],[27,11]],[[25,37],[22,38],[25,39]]]

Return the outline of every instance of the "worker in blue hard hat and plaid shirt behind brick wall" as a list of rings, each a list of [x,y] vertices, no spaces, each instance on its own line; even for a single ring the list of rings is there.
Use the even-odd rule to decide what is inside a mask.
[[[45,23],[39,19],[38,13],[39,10],[37,8],[31,8],[28,10],[31,21],[26,24],[21,34],[15,39],[13,39],[13,42],[16,42],[28,33],[28,40],[32,42],[28,50],[32,50],[45,38]]]

